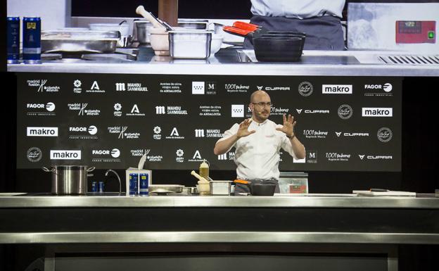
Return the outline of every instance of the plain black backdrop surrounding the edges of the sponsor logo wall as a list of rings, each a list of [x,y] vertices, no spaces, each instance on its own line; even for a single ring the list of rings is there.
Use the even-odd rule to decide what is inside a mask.
[[[16,77],[7,73],[8,91],[15,92]],[[402,80],[402,171],[401,172],[309,172],[310,193],[350,193],[352,189],[385,187],[418,193],[434,193],[439,189],[438,121],[435,119],[436,101],[433,98],[439,85],[438,77],[405,77]],[[42,170],[15,170],[16,168],[16,97],[8,96],[1,115],[4,130],[1,144],[4,163],[1,163],[0,191],[48,192],[50,179]],[[118,171],[120,175],[125,170]],[[95,177],[103,178],[104,170],[97,170]],[[212,170],[215,179],[228,179],[234,170]],[[154,179],[172,184],[193,185],[188,170],[155,170]],[[40,182],[35,182],[40,180]],[[44,180],[44,182],[42,182]],[[117,182],[110,181],[108,189],[117,189]]]

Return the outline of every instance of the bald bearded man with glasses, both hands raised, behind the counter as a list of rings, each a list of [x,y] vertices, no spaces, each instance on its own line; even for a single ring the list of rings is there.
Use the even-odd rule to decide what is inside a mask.
[[[252,118],[235,123],[224,132],[213,152],[220,155],[236,148],[236,178],[251,182],[276,184],[279,193],[279,151],[284,149],[296,159],[305,158],[305,147],[295,136],[295,121],[284,114],[284,125],[268,119],[272,101],[267,92],[258,90],[250,96]],[[235,194],[250,193],[246,184],[236,184]]]

